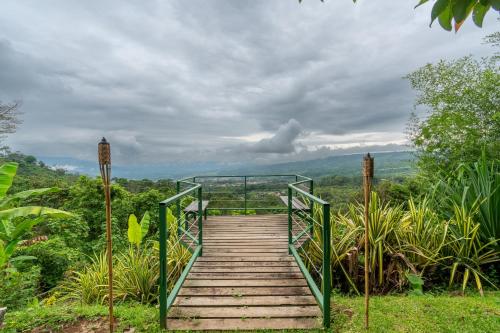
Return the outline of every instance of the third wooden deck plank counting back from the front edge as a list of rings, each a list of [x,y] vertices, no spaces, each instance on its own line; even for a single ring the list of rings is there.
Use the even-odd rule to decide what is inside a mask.
[[[287,306],[316,305],[313,296],[178,296],[176,306]]]

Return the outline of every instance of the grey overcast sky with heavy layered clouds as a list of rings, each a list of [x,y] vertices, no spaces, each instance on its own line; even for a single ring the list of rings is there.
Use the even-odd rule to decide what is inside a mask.
[[[416,0],[2,0],[0,100],[22,101],[6,143],[119,164],[285,161],[405,143],[405,74],[491,52],[498,30],[429,28]]]

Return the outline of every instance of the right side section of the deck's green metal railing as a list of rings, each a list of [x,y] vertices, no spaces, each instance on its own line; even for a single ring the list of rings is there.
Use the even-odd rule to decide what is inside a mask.
[[[308,191],[301,188],[309,182]],[[297,198],[308,208],[294,207]],[[318,301],[323,326],[330,327],[330,204],[313,195],[312,180],[288,185],[288,249]]]

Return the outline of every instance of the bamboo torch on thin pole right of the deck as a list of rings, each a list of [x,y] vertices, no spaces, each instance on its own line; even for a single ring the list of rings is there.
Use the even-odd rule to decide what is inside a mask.
[[[370,305],[369,237],[370,223],[368,209],[373,178],[373,157],[368,153],[363,158],[363,188],[365,194],[365,329],[368,329],[368,309]]]

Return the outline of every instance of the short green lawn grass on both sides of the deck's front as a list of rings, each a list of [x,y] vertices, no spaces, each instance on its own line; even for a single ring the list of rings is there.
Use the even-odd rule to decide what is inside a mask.
[[[362,332],[363,298],[334,296],[332,331]],[[500,332],[500,292],[485,297],[450,295],[380,296],[371,298],[370,332]],[[56,304],[35,306],[6,316],[2,332],[23,332],[45,326],[57,330],[81,318],[105,316],[107,307]],[[158,309],[139,304],[115,306],[117,332],[160,332]]]

